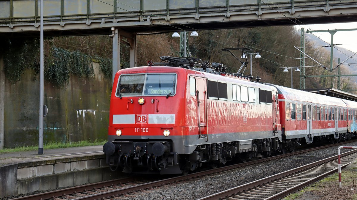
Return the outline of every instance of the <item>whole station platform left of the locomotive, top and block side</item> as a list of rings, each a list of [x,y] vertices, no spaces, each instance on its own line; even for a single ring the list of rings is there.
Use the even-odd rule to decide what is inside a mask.
[[[0,199],[36,190],[120,178],[106,164],[103,145],[0,153]],[[31,184],[29,184],[31,183]]]

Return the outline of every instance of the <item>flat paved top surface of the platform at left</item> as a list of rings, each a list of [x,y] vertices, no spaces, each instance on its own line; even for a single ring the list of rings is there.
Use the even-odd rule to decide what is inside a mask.
[[[0,166],[26,163],[41,160],[56,160],[61,158],[75,158],[81,156],[104,155],[103,145],[88,147],[70,147],[60,149],[44,149],[39,155],[38,150],[28,152],[0,153]]]

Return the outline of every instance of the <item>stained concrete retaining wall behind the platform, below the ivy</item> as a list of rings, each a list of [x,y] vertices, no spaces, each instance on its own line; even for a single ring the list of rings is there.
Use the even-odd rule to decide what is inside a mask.
[[[93,63],[94,78],[70,75],[65,88],[44,83],[44,144],[105,140],[108,134],[112,83]],[[39,137],[39,75],[25,69],[11,84],[0,58],[0,149],[36,146]],[[6,105],[4,107],[4,105]]]

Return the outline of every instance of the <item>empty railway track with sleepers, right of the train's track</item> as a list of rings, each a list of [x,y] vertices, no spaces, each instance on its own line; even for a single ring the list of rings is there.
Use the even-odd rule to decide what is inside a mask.
[[[341,168],[357,157],[357,150],[341,154]],[[338,171],[338,157],[333,156],[264,179],[237,186],[199,200],[278,200]]]

